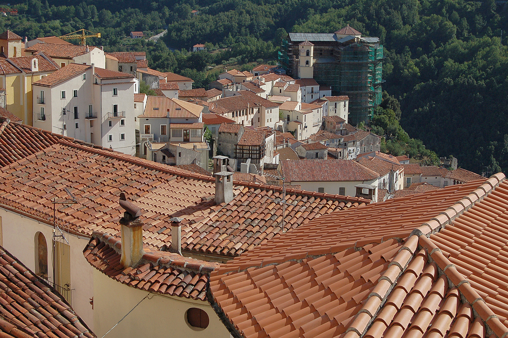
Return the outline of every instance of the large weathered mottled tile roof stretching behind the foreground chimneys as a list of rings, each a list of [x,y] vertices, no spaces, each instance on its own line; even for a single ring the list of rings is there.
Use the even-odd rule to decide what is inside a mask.
[[[67,198],[63,187],[71,187],[85,202],[78,208],[71,205],[60,208],[57,222],[71,233],[91,236],[97,230],[117,236],[121,211],[111,205],[117,202],[121,190],[146,210],[147,248],[170,245],[169,219],[180,217],[184,219],[184,252],[225,257],[250,250],[281,231],[282,205],[273,200],[282,198],[281,188],[235,182],[233,201],[216,204],[213,177],[109,149],[92,148],[67,137],[59,136],[51,143],[47,138],[48,135],[55,137],[53,134],[25,125],[9,124],[9,127],[12,128],[5,128],[0,134],[1,144],[9,151],[5,152],[21,156],[17,162],[0,169],[0,206],[4,209],[52,224],[52,198]],[[25,146],[23,152],[9,149],[33,140],[40,141],[31,148]],[[9,160],[4,157],[0,158],[8,164]],[[30,177],[26,176],[27,172],[32,173]],[[292,204],[285,207],[285,229],[297,227],[317,214],[368,202],[362,198],[291,189],[286,189],[285,199]]]

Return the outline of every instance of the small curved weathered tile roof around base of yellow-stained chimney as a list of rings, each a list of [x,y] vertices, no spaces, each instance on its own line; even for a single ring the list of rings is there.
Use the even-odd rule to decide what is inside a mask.
[[[145,248],[140,263],[134,268],[125,268],[120,263],[120,239],[96,231],[92,233],[83,255],[93,267],[122,284],[196,300],[206,300],[207,276],[219,265]]]

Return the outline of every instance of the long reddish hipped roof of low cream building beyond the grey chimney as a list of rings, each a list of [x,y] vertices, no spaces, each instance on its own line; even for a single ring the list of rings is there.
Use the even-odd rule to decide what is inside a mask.
[[[355,160],[280,161],[285,179],[290,182],[368,181],[379,174]]]

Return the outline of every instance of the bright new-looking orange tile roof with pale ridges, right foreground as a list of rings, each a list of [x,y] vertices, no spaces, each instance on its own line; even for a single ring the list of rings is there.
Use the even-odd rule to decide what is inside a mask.
[[[213,271],[209,300],[245,338],[502,338],[503,178],[317,218]]]

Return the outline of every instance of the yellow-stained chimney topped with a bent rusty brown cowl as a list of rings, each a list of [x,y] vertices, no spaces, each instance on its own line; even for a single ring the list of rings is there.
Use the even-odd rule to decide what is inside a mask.
[[[141,208],[137,207],[120,193],[120,206],[125,210],[120,219],[122,252],[120,263],[124,267],[135,267],[145,254],[143,250],[143,221],[139,218]]]

